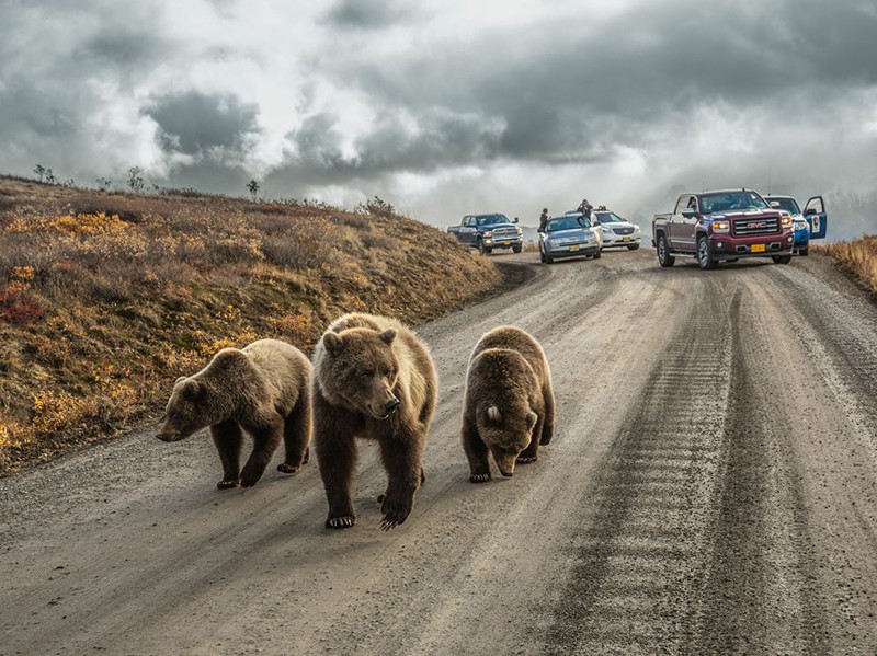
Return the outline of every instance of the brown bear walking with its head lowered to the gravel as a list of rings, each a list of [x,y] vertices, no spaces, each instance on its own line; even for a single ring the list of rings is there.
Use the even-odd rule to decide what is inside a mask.
[[[500,326],[485,334],[469,357],[460,439],[469,481],[490,480],[488,451],[503,476],[534,462],[551,441],[555,395],[545,352],[529,334]]]

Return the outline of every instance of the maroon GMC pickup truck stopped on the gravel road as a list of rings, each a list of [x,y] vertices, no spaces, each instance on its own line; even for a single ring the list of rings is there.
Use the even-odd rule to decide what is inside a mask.
[[[701,268],[741,257],[788,264],[795,246],[788,212],[751,189],[682,194],[672,214],[654,215],[651,228],[661,266],[676,257],[694,257]]]

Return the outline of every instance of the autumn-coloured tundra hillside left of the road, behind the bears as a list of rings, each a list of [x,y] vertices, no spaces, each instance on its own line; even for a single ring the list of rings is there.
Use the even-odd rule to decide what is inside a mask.
[[[348,311],[420,323],[500,275],[384,203],[106,193],[0,177],[0,475],[156,417],[226,346],[306,353]]]

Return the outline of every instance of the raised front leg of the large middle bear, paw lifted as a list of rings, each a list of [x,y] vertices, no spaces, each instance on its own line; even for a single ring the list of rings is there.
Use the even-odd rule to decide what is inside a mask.
[[[425,436],[386,435],[378,438],[380,459],[387,470],[387,492],[380,504],[384,519],[380,528],[388,531],[403,523],[414,507],[414,494],[423,476],[423,442]]]

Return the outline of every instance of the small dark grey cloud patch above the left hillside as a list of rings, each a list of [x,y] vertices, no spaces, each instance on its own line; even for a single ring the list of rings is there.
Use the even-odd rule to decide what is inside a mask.
[[[231,94],[186,91],[153,100],[144,113],[161,128],[164,148],[185,154],[216,149],[239,153],[259,131],[258,105]]]

